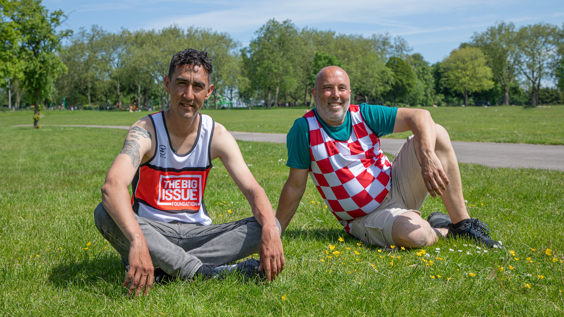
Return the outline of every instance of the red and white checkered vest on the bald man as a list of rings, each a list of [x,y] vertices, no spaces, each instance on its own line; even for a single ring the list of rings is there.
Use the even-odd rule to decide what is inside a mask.
[[[329,137],[313,110],[303,116],[310,130],[311,179],[347,233],[349,223],[378,208],[391,188],[391,165],[380,138],[357,105],[351,104],[349,113],[352,131],[344,142]]]

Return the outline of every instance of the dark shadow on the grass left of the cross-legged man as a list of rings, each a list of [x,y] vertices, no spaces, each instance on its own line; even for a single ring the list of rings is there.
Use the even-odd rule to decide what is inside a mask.
[[[115,296],[124,283],[125,270],[115,254],[85,253],[82,257],[68,256],[51,268],[47,278],[57,288],[82,290]]]

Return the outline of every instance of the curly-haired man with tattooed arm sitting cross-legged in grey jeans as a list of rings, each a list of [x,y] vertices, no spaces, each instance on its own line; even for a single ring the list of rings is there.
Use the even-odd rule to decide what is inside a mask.
[[[205,51],[187,49],[173,56],[164,80],[170,108],[131,126],[102,187],[94,221],[121,255],[128,296],[147,294],[153,276],[160,282],[223,278],[238,271],[274,280],[284,268],[280,224],[265,191],[231,134],[199,113],[214,89],[211,68]],[[204,190],[217,157],[254,217],[211,224]],[[260,262],[225,265],[257,252]]]

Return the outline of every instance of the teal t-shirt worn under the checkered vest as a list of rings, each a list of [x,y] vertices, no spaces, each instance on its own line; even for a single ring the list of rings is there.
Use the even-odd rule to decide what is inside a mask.
[[[394,131],[395,115],[398,108],[384,107],[383,105],[360,104],[360,114],[364,122],[378,138],[391,134]],[[315,117],[321,123],[321,127],[329,134],[329,137],[346,141],[349,139],[352,126],[350,112],[347,112],[345,122],[340,126],[329,126],[319,117],[317,109],[314,108]],[[310,157],[310,131],[307,120],[304,117],[297,118],[294,125],[286,136],[288,148],[288,161],[286,166],[294,169],[309,169]]]

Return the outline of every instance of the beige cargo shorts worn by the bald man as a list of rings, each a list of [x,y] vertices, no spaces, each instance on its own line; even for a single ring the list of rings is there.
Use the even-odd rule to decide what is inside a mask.
[[[427,198],[427,189],[421,176],[421,165],[415,154],[413,135],[407,137],[391,162],[391,190],[382,204],[372,213],[350,223],[350,234],[367,245],[389,248],[395,245],[391,227],[398,215],[418,211]]]

